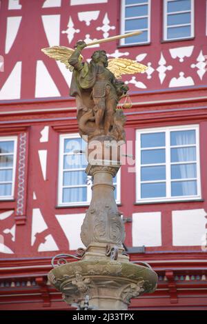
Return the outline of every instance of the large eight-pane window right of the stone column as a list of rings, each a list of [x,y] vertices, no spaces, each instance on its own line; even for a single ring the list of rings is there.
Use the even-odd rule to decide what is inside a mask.
[[[199,128],[137,130],[137,201],[200,199]]]

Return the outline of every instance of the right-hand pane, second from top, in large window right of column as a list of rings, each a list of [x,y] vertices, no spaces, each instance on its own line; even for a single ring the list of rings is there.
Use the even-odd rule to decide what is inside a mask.
[[[195,161],[195,148],[171,148],[171,162]]]

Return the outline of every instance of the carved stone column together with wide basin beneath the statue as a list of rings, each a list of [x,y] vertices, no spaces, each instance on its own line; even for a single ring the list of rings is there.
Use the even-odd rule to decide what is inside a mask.
[[[104,143],[100,147],[104,148]],[[112,184],[119,168],[120,160],[113,161],[111,155],[109,160],[102,160],[99,165],[89,163],[86,168],[93,178],[92,200],[81,227],[86,251],[80,261],[59,265],[48,275],[50,283],[70,305],[83,307],[87,296],[92,309],[127,310],[130,298],[153,292],[157,286],[154,271],[130,263],[124,254],[124,222]]]

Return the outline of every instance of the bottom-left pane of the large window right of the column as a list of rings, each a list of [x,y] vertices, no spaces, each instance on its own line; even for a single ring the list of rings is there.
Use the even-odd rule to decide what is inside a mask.
[[[155,198],[166,196],[166,183],[142,183],[141,198]]]

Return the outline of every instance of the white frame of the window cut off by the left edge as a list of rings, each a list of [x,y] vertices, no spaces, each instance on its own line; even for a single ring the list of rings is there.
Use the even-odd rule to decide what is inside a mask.
[[[12,167],[12,193],[10,196],[0,196],[0,201],[14,199],[14,187],[17,168],[17,136],[0,136],[0,142],[14,141],[13,167]],[[0,153],[0,155],[10,155],[11,153]],[[0,167],[0,170],[11,169],[11,167]],[[1,183],[11,183],[11,181],[2,181]]]

